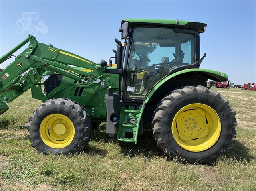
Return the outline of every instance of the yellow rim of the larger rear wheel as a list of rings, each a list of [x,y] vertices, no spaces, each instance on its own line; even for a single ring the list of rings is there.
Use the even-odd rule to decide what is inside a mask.
[[[189,104],[175,115],[172,134],[179,146],[192,152],[212,147],[220,136],[218,114],[205,104]]]

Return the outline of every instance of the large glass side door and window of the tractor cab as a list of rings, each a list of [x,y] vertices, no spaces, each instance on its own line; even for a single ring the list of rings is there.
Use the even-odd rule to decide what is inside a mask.
[[[129,53],[127,98],[145,98],[170,69],[195,62],[195,36],[170,28],[134,29]]]

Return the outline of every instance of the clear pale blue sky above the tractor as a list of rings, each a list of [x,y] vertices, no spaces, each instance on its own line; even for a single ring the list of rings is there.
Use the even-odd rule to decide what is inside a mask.
[[[234,84],[256,81],[255,0],[242,1],[0,1],[0,55],[26,38],[15,25],[22,12],[39,12],[48,33],[41,43],[99,63],[109,60],[123,18],[179,19],[208,24],[200,36],[201,68],[222,71]],[[22,49],[24,50],[24,49]],[[1,67],[10,63],[6,61]]]

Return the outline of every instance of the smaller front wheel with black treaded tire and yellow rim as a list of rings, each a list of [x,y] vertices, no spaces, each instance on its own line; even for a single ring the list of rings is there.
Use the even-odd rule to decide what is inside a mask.
[[[29,118],[28,138],[38,153],[76,153],[89,142],[90,118],[85,109],[69,99],[42,103]]]

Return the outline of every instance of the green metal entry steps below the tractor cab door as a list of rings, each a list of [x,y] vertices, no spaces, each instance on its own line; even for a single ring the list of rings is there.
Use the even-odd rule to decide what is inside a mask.
[[[128,109],[121,107],[117,140],[137,144],[139,122],[143,112],[141,108],[142,106],[139,107],[139,110],[136,110],[135,106],[129,106]]]

